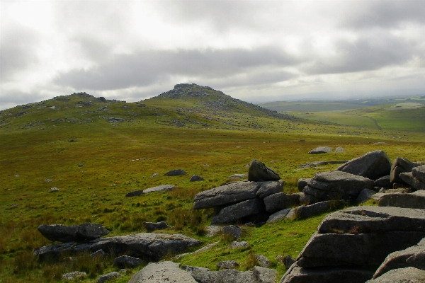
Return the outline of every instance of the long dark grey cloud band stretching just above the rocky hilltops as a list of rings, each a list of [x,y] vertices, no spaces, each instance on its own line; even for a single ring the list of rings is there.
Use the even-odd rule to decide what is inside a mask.
[[[255,50],[158,50],[116,55],[98,67],[73,70],[57,76],[55,83],[77,89],[120,89],[169,81],[172,76],[225,78],[250,69],[297,63],[273,47]]]

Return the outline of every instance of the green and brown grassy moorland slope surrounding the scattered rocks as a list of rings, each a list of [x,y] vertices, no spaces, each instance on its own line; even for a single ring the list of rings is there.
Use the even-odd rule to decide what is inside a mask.
[[[276,255],[296,256],[324,215],[248,228],[242,240],[251,243],[251,248],[231,251],[227,249],[227,239],[221,236],[197,235],[208,224],[212,212],[193,212],[193,195],[224,183],[229,175],[246,173],[245,165],[251,158],[258,158],[276,170],[286,181],[285,192],[297,191],[298,178],[309,178],[317,171],[335,167],[298,171],[298,166],[305,162],[346,160],[373,149],[385,150],[391,159],[404,156],[412,161],[425,160],[420,133],[392,139],[393,132],[386,130],[290,122],[260,115],[252,118],[254,112],[210,120],[196,112],[176,111],[176,100],[147,100],[143,102],[147,108],[139,108],[135,103],[111,103],[108,111],[98,110],[106,104],[102,102],[65,108],[81,99],[47,101],[29,108],[31,112],[21,117],[16,117],[20,108],[1,113],[0,120],[5,122],[0,129],[0,282],[47,282],[54,275],[73,270],[91,271],[92,278],[86,282],[95,282],[99,272],[114,270],[111,259],[84,266],[36,262],[32,250],[50,244],[36,231],[40,224],[90,221],[103,224],[111,229],[111,236],[116,236],[145,231],[142,221],[165,220],[176,226],[167,233],[184,233],[205,243],[222,241],[209,252],[180,260],[212,270],[217,262],[228,259],[238,260],[244,270],[252,264],[252,253],[263,253],[269,259]],[[179,107],[183,108],[185,103],[191,105],[179,101]],[[45,108],[47,105],[56,107]],[[98,117],[106,115],[124,117],[127,122],[109,123],[108,119]],[[57,120],[63,117],[67,117],[64,122]],[[79,123],[88,118],[94,122]],[[172,121],[176,119],[187,124],[174,127]],[[205,122],[208,127],[186,119]],[[387,144],[373,144],[376,141]],[[347,151],[321,156],[307,154],[322,145],[342,146]],[[84,166],[79,167],[79,163]],[[163,176],[175,168],[183,168],[188,175]],[[153,173],[159,173],[159,177],[151,178]],[[190,183],[188,179],[193,174],[203,176],[205,181]],[[46,179],[52,183],[44,183]],[[172,192],[125,198],[127,192],[161,184],[179,187]],[[50,187],[58,187],[60,192],[50,193]],[[14,203],[18,207],[12,209]],[[282,275],[284,267],[276,261],[274,264]],[[135,271],[117,282],[127,282],[132,272]]]

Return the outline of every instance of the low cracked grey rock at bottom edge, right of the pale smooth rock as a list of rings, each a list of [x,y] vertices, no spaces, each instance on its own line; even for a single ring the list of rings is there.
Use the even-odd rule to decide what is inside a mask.
[[[276,270],[259,266],[254,266],[252,271],[245,272],[234,269],[214,272],[208,268],[191,266],[183,266],[182,268],[189,272],[199,283],[274,283],[277,275]]]

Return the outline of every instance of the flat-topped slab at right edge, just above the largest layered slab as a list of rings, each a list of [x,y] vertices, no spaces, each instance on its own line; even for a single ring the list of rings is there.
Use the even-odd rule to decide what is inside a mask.
[[[407,193],[393,193],[383,194],[378,200],[380,207],[404,207],[404,208],[415,208],[425,209],[425,191],[418,190]]]

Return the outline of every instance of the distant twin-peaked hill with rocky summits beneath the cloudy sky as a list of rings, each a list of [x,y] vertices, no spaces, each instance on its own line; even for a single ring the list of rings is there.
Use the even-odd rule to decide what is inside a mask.
[[[82,92],[19,105],[0,111],[0,128],[47,129],[67,124],[141,122],[152,127],[258,129],[267,125],[263,119],[295,120],[295,117],[246,103],[208,86],[181,83],[159,96],[135,103],[96,98]]]

